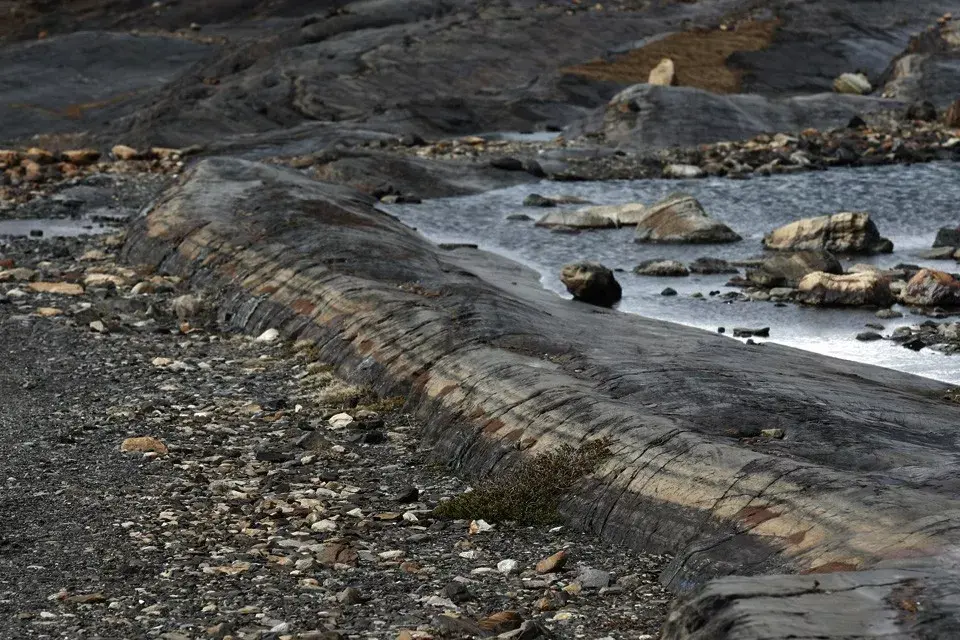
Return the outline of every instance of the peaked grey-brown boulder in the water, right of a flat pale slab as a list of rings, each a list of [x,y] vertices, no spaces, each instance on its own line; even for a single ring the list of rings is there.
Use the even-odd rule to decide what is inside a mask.
[[[714,220],[693,196],[675,194],[651,206],[637,221],[636,242],[710,244],[742,238]]]

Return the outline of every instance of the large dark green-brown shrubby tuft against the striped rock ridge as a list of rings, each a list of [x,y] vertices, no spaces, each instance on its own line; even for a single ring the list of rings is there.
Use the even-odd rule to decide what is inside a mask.
[[[483,480],[473,491],[441,503],[437,516],[455,520],[552,524],[560,519],[560,500],[578,480],[610,457],[612,441],[564,444],[521,462],[515,469]]]

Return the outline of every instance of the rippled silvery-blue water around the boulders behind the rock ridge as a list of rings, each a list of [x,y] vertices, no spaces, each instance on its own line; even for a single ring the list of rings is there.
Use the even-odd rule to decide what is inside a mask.
[[[632,228],[587,231],[578,235],[553,233],[531,221],[509,221],[512,213],[538,218],[550,209],[521,206],[524,196],[571,194],[597,204],[653,203],[685,191],[696,196],[706,210],[744,237],[728,245],[665,246],[633,242]],[[726,259],[756,257],[762,253],[763,234],[797,218],[869,211],[882,235],[893,240],[895,252],[872,258],[845,260],[850,265],[869,262],[892,266],[898,262],[923,264],[955,272],[950,261],[920,260],[916,252],[929,248],[937,229],[960,224],[960,164],[925,164],[864,169],[833,169],[747,181],[722,178],[705,180],[638,180],[622,182],[558,183],[544,181],[475,196],[432,200],[419,205],[383,206],[410,226],[438,242],[474,242],[540,271],[544,286],[567,295],[557,274],[575,260],[596,260],[620,268],[622,311],[679,322],[715,331],[725,327],[769,326],[770,341],[839,358],[868,362],[960,383],[960,356],[945,356],[925,349],[919,353],[890,342],[862,343],[855,339],[867,322],[884,324],[884,335],[898,326],[925,318],[907,316],[878,320],[873,312],[810,309],[795,305],[776,307],[769,302],[727,303],[719,298],[698,300],[724,287],[729,276],[651,278],[629,271],[655,257],[690,262],[700,256]],[[664,297],[665,287],[679,292]]]

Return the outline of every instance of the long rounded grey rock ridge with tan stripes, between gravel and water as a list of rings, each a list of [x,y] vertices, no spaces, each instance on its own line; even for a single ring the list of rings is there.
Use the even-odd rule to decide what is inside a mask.
[[[921,562],[960,542],[960,408],[944,385],[574,304],[515,263],[439,249],[354,192],[238,160],[194,168],[125,257],[218,289],[228,325],[314,340],[354,382],[409,393],[436,454],[465,471],[511,466],[521,440],[536,453],[612,438],[566,513],[676,552],[663,576],[675,589],[830,574],[709,583],[665,637],[869,637],[865,612],[897,633],[956,626],[956,574]],[[757,438],[771,421],[784,438]],[[854,572],[870,567],[888,573]],[[901,619],[880,597],[904,576],[937,616]],[[796,598],[779,601],[789,615],[758,599],[778,585]]]

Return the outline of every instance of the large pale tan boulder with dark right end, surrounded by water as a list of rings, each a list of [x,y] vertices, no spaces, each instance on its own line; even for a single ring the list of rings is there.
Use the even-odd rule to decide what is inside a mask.
[[[765,235],[763,246],[777,251],[824,249],[862,254],[893,251],[893,243],[880,237],[870,214],[852,211],[791,222]]]

